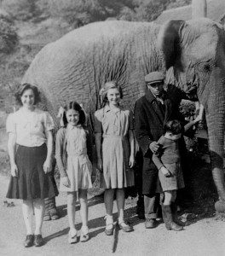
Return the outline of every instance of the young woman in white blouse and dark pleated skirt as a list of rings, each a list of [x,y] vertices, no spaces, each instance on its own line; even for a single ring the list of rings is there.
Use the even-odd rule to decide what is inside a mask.
[[[21,108],[9,114],[6,130],[11,178],[7,198],[21,199],[26,224],[25,247],[43,245],[44,198],[58,195],[55,180],[49,175],[53,150],[54,123],[48,112],[35,107],[40,102],[38,88],[23,84],[15,95]],[[32,216],[35,231],[32,232]]]

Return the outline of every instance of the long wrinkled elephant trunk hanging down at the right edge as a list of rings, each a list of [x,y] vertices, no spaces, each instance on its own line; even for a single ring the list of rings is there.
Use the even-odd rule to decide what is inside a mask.
[[[206,103],[206,121],[211,151],[211,167],[214,183],[220,200],[225,203],[225,184],[223,167],[225,110],[222,72],[216,70],[210,81]],[[224,205],[225,206],[225,205]],[[224,207],[225,210],[225,207]]]

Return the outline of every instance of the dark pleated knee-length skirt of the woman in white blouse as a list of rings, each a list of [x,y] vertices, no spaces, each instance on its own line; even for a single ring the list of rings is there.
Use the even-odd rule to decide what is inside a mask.
[[[53,175],[43,172],[46,156],[45,143],[40,147],[18,146],[15,154],[18,177],[11,176],[7,198],[32,200],[59,194]]]

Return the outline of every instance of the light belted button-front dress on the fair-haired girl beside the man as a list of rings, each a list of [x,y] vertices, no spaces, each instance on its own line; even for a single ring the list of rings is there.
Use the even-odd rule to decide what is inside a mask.
[[[103,178],[101,187],[122,189],[134,185],[134,172],[129,167],[128,131],[133,129],[129,110],[111,109],[108,105],[95,112],[95,133],[101,133]]]

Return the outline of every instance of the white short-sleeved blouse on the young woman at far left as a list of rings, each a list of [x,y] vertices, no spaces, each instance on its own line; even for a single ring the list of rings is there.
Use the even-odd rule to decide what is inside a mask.
[[[46,142],[46,131],[54,129],[54,122],[48,112],[35,108],[26,112],[20,108],[10,113],[6,120],[6,131],[16,134],[16,143],[26,147],[39,147]]]

